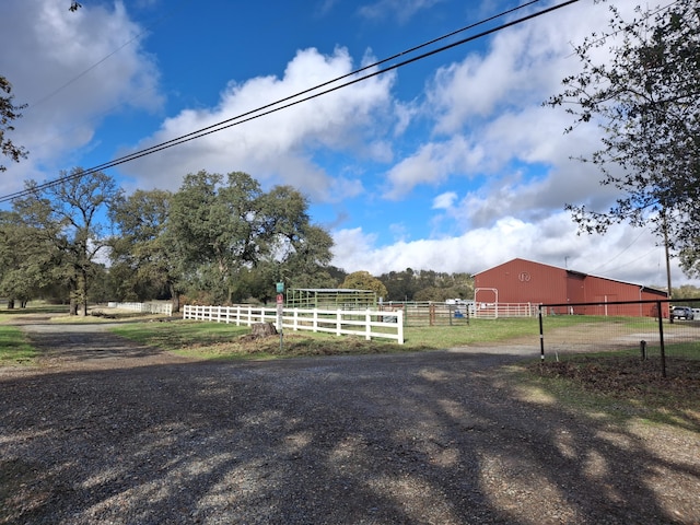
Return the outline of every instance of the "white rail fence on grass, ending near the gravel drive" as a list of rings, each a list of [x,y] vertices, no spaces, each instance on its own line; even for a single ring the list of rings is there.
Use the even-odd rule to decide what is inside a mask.
[[[194,306],[183,307],[184,319],[209,320],[214,323],[234,323],[250,326],[254,323],[275,323],[277,308],[237,305],[237,306]],[[337,336],[360,336],[366,340],[373,338],[393,339],[404,345],[404,312],[387,314],[375,310],[318,310],[284,308],[282,329],[323,331]],[[280,327],[278,326],[279,330]]]

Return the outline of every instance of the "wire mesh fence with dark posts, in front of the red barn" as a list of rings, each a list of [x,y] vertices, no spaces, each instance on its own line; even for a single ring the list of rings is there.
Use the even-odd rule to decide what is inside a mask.
[[[551,315],[584,310],[597,315],[564,314],[576,317],[567,326],[558,326],[558,316]],[[542,361],[582,353],[599,353],[602,359],[605,354],[633,355],[641,362],[657,363],[664,377],[670,368],[674,374],[682,374],[687,363],[700,363],[700,299],[542,304],[539,335]]]

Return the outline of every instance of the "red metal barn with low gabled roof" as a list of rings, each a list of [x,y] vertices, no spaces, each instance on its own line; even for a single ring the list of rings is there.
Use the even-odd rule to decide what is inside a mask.
[[[607,305],[616,301],[666,300],[666,292],[641,284],[590,276],[580,271],[513,259],[474,276],[475,302],[574,304],[598,303],[592,306],[556,308],[556,313],[588,315],[625,315],[656,317],[656,305]],[[667,315],[667,303],[662,305]]]

